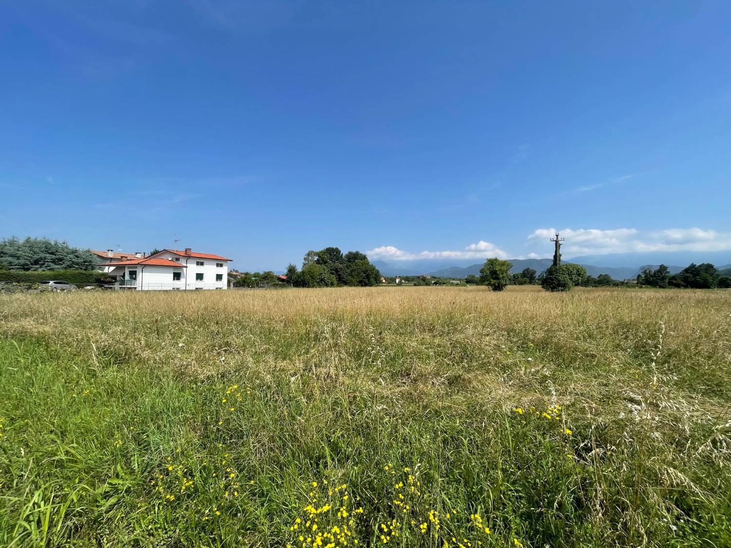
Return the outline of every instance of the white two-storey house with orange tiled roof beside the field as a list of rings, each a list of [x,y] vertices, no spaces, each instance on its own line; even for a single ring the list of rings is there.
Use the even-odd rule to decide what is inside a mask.
[[[110,275],[127,289],[226,289],[231,259],[220,255],[164,249],[147,257],[110,262]]]

